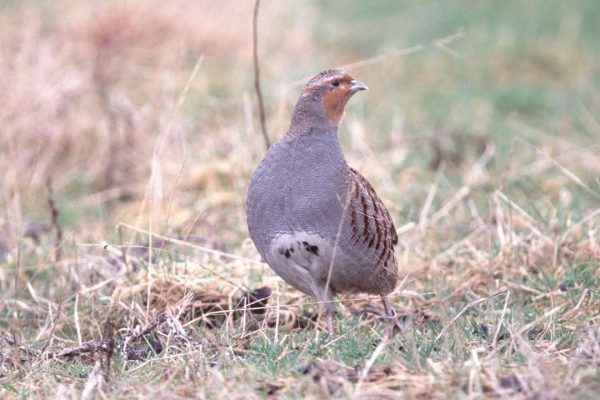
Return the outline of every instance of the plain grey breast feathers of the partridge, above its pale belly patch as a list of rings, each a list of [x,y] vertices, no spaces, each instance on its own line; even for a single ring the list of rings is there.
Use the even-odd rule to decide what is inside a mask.
[[[283,137],[258,166],[246,212],[263,258],[274,237],[294,231],[334,240],[344,213],[348,166],[337,130]]]

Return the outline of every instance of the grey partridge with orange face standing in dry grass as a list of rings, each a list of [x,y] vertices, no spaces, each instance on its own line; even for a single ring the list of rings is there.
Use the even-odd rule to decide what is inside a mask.
[[[339,138],[345,106],[363,90],[366,84],[339,69],[310,79],[246,199],[248,230],[262,259],[321,304],[331,337],[334,296],[348,293],[379,295],[392,331],[402,330],[388,298],[399,281],[396,228],[373,186],[346,162]]]

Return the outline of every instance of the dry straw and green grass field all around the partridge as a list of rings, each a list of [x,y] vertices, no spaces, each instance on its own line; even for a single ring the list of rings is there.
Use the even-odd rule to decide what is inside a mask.
[[[3,3],[0,397],[594,398],[598,4],[263,2],[272,137],[322,69],[371,89],[405,329],[345,297],[331,341],[248,239],[252,4]]]

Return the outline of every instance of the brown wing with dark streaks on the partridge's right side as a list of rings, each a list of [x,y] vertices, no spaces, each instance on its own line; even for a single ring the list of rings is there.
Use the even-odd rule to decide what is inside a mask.
[[[350,168],[349,203],[352,240],[377,252],[381,265],[395,264],[394,245],[398,234],[390,213],[373,186],[358,171]]]

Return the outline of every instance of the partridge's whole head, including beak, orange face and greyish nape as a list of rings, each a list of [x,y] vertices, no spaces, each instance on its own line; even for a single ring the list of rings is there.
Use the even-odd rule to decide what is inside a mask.
[[[350,97],[359,90],[368,89],[367,85],[352,78],[346,71],[323,71],[304,87],[295,110],[295,114],[301,115],[294,117],[326,119],[333,126],[339,126]]]

